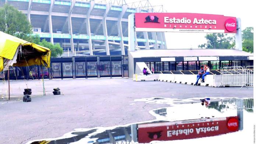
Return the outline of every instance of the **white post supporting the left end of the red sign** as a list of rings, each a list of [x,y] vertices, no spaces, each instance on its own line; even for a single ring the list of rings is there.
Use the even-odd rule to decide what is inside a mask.
[[[128,16],[128,51],[135,51],[134,14]]]

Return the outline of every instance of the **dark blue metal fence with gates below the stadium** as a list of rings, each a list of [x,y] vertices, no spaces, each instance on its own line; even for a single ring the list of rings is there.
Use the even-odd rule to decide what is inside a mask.
[[[33,65],[10,67],[11,80],[128,77],[128,56],[86,56],[51,58],[50,68]],[[7,80],[7,71],[0,72]]]

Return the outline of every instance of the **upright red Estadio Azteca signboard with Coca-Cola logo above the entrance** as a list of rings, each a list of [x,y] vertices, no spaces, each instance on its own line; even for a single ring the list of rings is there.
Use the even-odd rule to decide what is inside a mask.
[[[135,31],[237,33],[237,22],[224,15],[135,13]]]

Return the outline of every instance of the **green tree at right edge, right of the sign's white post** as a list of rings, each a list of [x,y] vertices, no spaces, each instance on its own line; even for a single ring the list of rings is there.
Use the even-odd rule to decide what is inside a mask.
[[[243,51],[253,53],[253,27],[246,27],[242,30]]]

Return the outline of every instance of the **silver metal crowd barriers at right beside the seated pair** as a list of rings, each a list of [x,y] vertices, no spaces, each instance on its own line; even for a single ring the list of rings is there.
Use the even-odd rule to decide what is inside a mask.
[[[253,87],[253,66],[223,67],[219,86]]]

